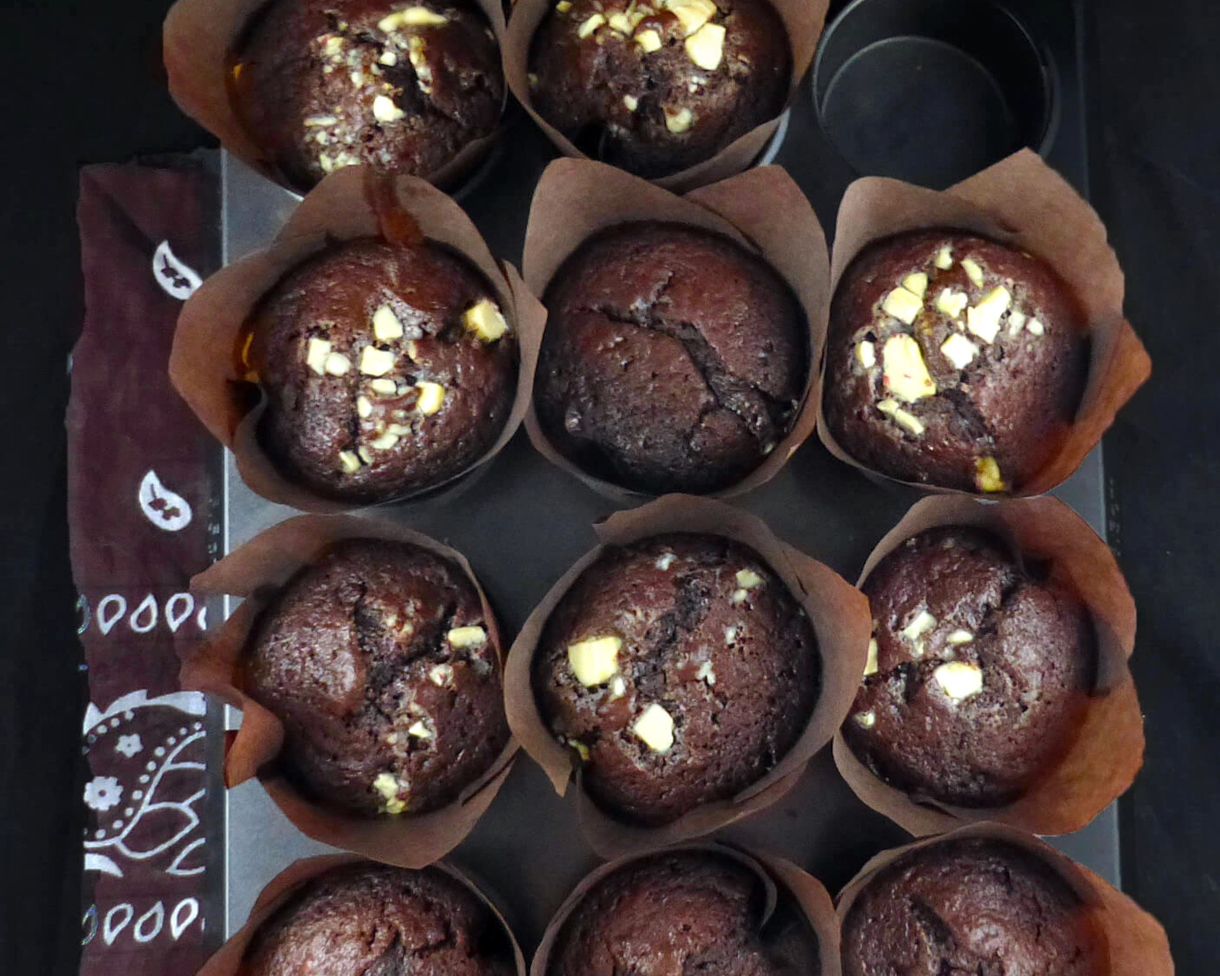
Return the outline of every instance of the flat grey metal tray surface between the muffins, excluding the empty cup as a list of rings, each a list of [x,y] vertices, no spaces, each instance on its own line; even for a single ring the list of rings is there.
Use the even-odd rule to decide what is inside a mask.
[[[1087,195],[1075,7],[1037,0],[1013,0],[1009,6],[1053,70],[1054,118],[1042,143],[1043,152]],[[822,132],[813,89],[811,82],[802,85],[776,162],[800,184],[830,233],[842,193],[856,173]],[[554,154],[525,116],[515,115],[509,124],[504,150],[459,199],[492,251],[520,267],[533,187]],[[227,155],[222,177],[223,257],[229,262],[266,244],[292,212],[296,198]],[[224,553],[294,514],[246,489],[231,456],[224,459],[223,486],[218,548]],[[1104,534],[1100,449],[1057,494]],[[916,498],[909,489],[863,478],[833,460],[813,438],[778,477],[739,499],[739,504],[765,518],[789,543],[855,580],[872,545]],[[553,581],[593,545],[589,526],[611,508],[611,503],[547,464],[518,433],[490,468],[456,499],[432,508],[383,508],[377,510],[377,517],[409,522],[468,556],[505,633],[511,636]],[[228,714],[224,721],[232,728],[240,716]],[[216,864],[223,871],[220,891],[227,936],[245,921],[267,881],[293,860],[327,848],[299,833],[255,781],[227,791],[223,817],[223,858],[217,858]],[[782,802],[720,836],[791,858],[832,892],[874,853],[905,839],[900,828],[848,791],[834,771],[830,749],[815,758]],[[1087,828],[1054,843],[1113,883],[1120,882],[1114,805]],[[526,952],[532,950],[547,920],[577,880],[597,864],[580,837],[570,800],[555,795],[525,754],[492,808],[451,858],[498,893]]]

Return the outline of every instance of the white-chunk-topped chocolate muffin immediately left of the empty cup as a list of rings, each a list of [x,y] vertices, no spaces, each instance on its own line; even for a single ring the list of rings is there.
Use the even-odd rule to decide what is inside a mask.
[[[586,155],[651,178],[775,118],[791,76],[766,0],[560,0],[529,48],[538,115]]]

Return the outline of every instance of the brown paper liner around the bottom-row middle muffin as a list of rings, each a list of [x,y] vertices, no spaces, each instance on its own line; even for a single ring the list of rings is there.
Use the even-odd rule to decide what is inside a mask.
[[[831,903],[830,894],[827,894],[822,883],[813,875],[802,871],[792,861],[769,854],[755,853],[723,841],[703,844],[677,844],[670,848],[628,854],[609,864],[603,864],[592,871],[572,889],[572,893],[567,895],[564,904],[560,905],[555,916],[548,924],[542,942],[538,943],[538,949],[534,952],[533,960],[529,963],[529,976],[547,976],[550,966],[550,953],[555,947],[555,939],[564,927],[564,922],[567,921],[572,910],[599,881],[632,861],[649,858],[654,854],[671,854],[680,850],[697,850],[728,856],[754,871],[761,878],[767,891],[767,905],[762,913],[761,922],[764,928],[773,914],[778,899],[778,889],[782,888],[795,903],[795,906],[800,909],[800,913],[805,916],[805,921],[809,922],[817,939],[817,954],[821,964],[819,970],[820,976],[839,976],[839,925],[838,919],[834,916],[834,906]]]

